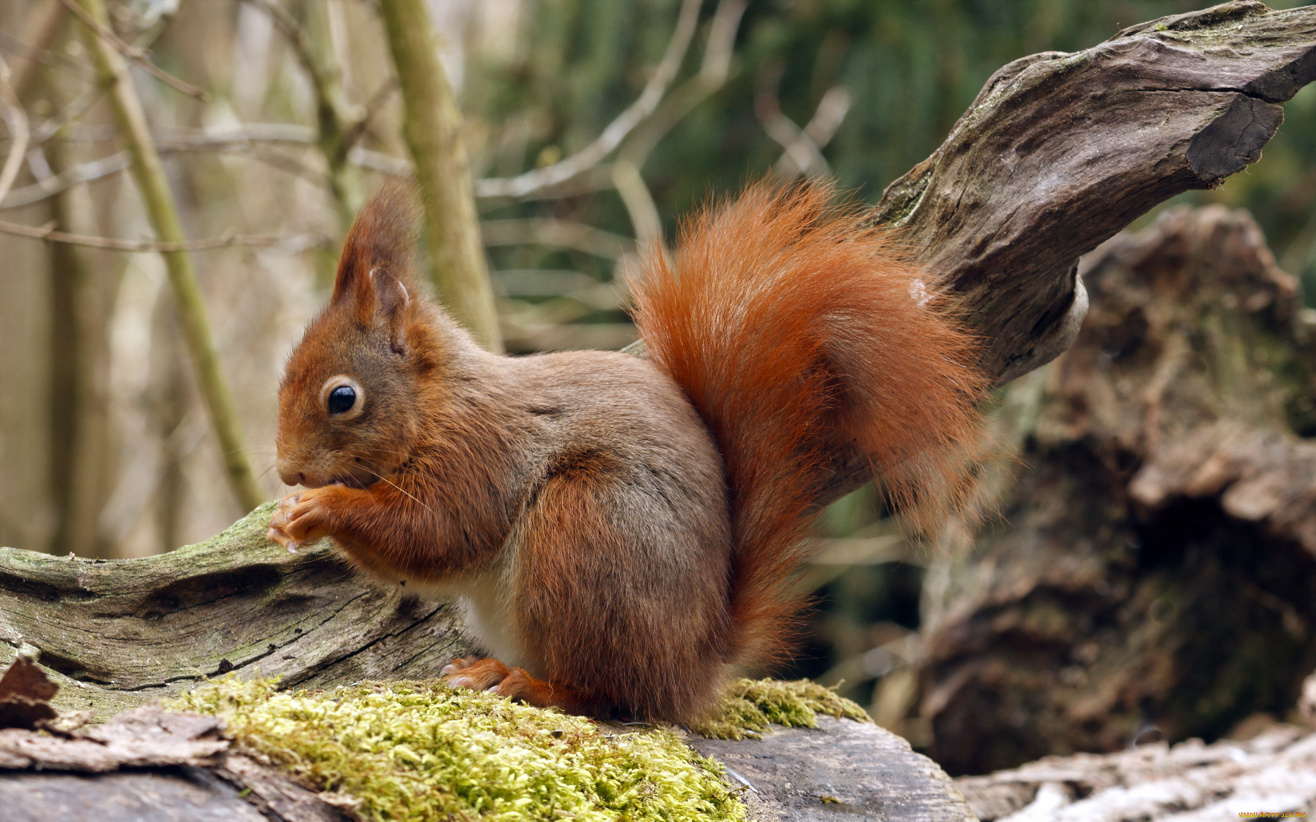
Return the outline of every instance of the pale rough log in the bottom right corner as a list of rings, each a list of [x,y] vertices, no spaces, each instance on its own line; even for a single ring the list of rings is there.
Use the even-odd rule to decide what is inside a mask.
[[[1048,756],[955,780],[982,822],[1207,822],[1316,811],[1316,734],[1277,726],[1246,742]]]

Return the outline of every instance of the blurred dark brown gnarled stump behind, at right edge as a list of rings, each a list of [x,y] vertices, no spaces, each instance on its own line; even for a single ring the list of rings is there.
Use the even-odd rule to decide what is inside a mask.
[[[923,714],[951,773],[1284,717],[1316,668],[1316,337],[1249,216],[1084,260],[1092,309],[1011,387],[1000,523],[929,575]]]

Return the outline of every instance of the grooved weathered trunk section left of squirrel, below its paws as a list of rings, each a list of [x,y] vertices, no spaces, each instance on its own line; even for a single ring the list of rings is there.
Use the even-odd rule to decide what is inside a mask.
[[[228,671],[320,688],[434,676],[466,651],[450,606],[351,573],[329,543],[270,544],[272,508],[146,559],[0,548],[0,664],[34,646],[55,708],[105,717]]]

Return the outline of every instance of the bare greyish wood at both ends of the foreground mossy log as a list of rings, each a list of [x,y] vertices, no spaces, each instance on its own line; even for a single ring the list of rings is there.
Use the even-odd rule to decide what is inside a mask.
[[[232,752],[213,717],[154,706],[57,738],[0,731],[7,822],[272,819],[346,822],[330,801],[274,767]],[[762,740],[692,739],[741,784],[751,822],[880,818],[969,822],[963,797],[926,756],[875,725],[820,718]],[[59,773],[63,771],[64,773]],[[54,773],[53,773],[54,772]],[[329,800],[329,801],[326,801]],[[92,813],[92,809],[96,809]],[[262,815],[263,814],[263,815]]]

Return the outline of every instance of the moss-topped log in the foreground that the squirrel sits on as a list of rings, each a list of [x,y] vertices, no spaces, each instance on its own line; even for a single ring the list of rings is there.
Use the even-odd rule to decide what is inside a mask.
[[[457,727],[443,721],[454,714],[426,710],[434,708],[436,700],[424,687],[388,692],[379,684],[295,697],[303,700],[295,710],[274,709],[280,721],[268,722],[270,713],[263,714],[265,721],[255,719],[268,708],[261,705],[261,697],[247,700],[251,694],[243,693],[245,685],[228,687],[226,696],[193,704],[204,713],[145,705],[104,725],[87,725],[89,712],[57,715],[49,704],[55,684],[28,658],[20,658],[0,675],[4,818],[7,822],[83,822],[92,817],[103,822],[147,817],[255,821],[262,815],[274,822],[411,819],[420,809],[413,802],[399,802],[397,793],[401,789],[408,794],[417,788],[426,792],[416,797],[425,802],[425,818],[451,818],[454,813],[467,818],[470,814],[463,811],[501,818],[509,808],[517,815],[542,818],[563,813],[563,806],[571,809],[566,811],[569,818],[594,818],[601,810],[626,818],[633,814],[671,818],[671,811],[690,818],[682,813],[688,810],[682,802],[661,801],[661,794],[675,798],[682,785],[701,797],[696,818],[709,813],[725,818],[722,811],[736,804],[737,793],[754,822],[820,815],[866,818],[873,813],[898,822],[963,822],[970,817],[941,768],[915,754],[895,734],[849,718],[851,710],[858,710],[853,704],[834,706],[848,714],[834,718],[819,715],[808,702],[795,702],[796,709],[813,717],[816,727],[779,729],[751,740],[704,739],[671,729],[703,756],[725,764],[725,773],[716,780],[724,785],[719,786],[707,780],[704,765],[680,742],[667,731],[649,730],[645,723],[572,726],[567,717],[544,712],[540,721],[549,725],[544,727],[525,714],[517,719],[503,704],[495,709],[496,722],[512,730],[490,746],[491,729],[480,723],[482,714],[486,721],[490,718],[488,701],[482,706],[476,694],[467,694],[465,708],[455,714]],[[271,696],[268,690],[265,693]],[[399,696],[405,704],[400,712],[399,702],[390,701]],[[226,706],[233,713],[224,713],[225,708],[216,713],[208,706]],[[338,709],[342,713],[322,715]],[[318,719],[311,719],[317,714]],[[365,723],[363,715],[370,717]],[[426,730],[417,738],[408,731],[409,725]],[[342,734],[342,738],[329,743],[332,747],[305,744],[308,737],[325,742],[321,734]],[[645,739],[646,734],[667,740]],[[376,737],[386,738],[392,752],[404,754],[391,755],[380,768],[382,763],[366,754]],[[562,742],[546,742],[545,737]],[[541,740],[540,746],[553,746],[549,751],[572,764],[547,784],[526,785],[522,780],[529,771],[517,762],[530,758],[538,763],[533,771],[545,764],[534,758],[546,751],[526,744],[534,738]],[[421,742],[429,747],[425,756],[434,758],[429,769],[417,768],[421,763],[416,754],[421,751],[416,746]],[[669,746],[672,756],[661,764],[644,754],[628,758],[626,751],[632,756],[653,751],[646,743]],[[683,754],[672,748],[682,748]],[[508,751],[507,759],[494,768],[476,764],[494,750]],[[462,786],[436,773],[433,767],[442,767],[440,758],[449,764],[459,763],[457,781],[483,783],[492,773],[501,784],[484,783],[474,793],[463,793]],[[620,772],[629,776],[621,780],[607,776]],[[451,771],[445,776],[450,777]],[[611,781],[612,788],[600,789],[599,780]],[[638,780],[638,785],[632,780]],[[550,788],[554,783],[558,790]],[[620,804],[619,784],[636,785],[621,792],[632,796]]]

